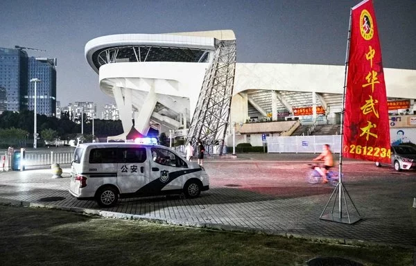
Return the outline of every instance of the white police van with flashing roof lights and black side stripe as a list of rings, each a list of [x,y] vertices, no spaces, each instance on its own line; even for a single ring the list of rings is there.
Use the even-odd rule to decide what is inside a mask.
[[[184,193],[193,198],[208,189],[202,166],[162,145],[83,143],[73,152],[69,193],[102,207],[126,197]]]

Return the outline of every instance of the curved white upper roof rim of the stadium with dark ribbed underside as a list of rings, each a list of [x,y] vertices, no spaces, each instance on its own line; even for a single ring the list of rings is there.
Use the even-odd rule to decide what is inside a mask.
[[[177,34],[123,34],[98,37],[85,45],[88,64],[114,62],[207,62],[215,38]]]

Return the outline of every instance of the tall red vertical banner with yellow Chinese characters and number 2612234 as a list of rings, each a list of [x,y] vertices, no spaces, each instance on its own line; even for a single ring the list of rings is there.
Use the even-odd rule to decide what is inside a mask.
[[[372,0],[352,8],[343,156],[390,162],[390,127]]]

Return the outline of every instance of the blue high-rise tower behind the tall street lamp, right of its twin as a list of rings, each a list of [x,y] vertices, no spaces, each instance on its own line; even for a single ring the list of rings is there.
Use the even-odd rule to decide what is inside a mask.
[[[28,76],[38,78],[36,91],[36,112],[46,116],[55,116],[56,112],[56,58],[29,57]],[[29,84],[28,109],[35,107],[35,85]]]

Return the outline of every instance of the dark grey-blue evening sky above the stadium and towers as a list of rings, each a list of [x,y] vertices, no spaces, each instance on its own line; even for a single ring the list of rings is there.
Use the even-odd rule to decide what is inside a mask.
[[[237,61],[344,64],[349,10],[359,0],[14,0],[0,3],[0,47],[58,58],[61,105],[113,103],[84,56],[95,37],[232,29]],[[373,0],[383,65],[416,69],[416,0]]]

